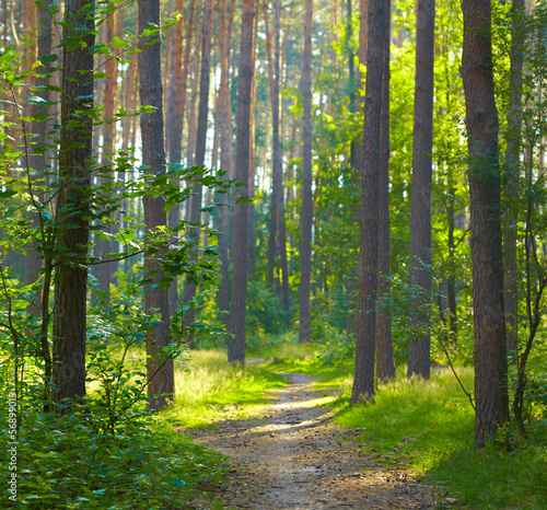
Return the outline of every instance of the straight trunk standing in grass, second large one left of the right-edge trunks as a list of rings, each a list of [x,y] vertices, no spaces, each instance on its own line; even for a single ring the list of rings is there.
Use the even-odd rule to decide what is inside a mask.
[[[416,81],[414,103],[412,192],[410,197],[410,285],[418,286],[408,344],[408,372],[429,379],[431,335],[431,178],[433,151],[433,62],[435,2],[418,0],[416,14]]]

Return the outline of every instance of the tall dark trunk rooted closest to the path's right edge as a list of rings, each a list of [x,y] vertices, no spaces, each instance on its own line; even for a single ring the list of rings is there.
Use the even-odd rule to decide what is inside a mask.
[[[350,402],[374,399],[377,291],[380,134],[386,1],[369,2],[369,47],[364,98],[361,241],[359,253],[356,371]]]

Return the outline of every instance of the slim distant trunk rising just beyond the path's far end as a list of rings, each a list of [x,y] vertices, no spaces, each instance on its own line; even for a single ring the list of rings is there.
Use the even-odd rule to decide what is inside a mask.
[[[304,55],[302,66],[302,92],[304,94],[304,116],[302,123],[302,244],[300,246],[300,324],[299,341],[311,340],[312,315],[310,292],[312,278],[312,24],[313,1],[305,1]]]

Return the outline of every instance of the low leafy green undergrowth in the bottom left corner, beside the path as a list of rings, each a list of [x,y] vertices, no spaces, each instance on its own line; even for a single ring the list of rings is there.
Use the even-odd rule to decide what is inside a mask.
[[[25,418],[18,438],[16,508],[186,508],[226,471],[221,454],[154,425],[150,416],[115,434],[96,434],[78,415]],[[1,508],[11,508],[8,496],[2,490]]]

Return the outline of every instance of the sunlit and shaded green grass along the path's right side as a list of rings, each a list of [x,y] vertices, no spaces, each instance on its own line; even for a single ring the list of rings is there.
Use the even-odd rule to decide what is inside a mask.
[[[507,441],[492,441],[484,450],[474,444],[474,410],[447,369],[433,370],[430,381],[405,376],[399,367],[395,382],[381,385],[375,404],[350,406],[351,362],[318,366],[313,351],[295,358],[286,347],[275,370],[318,376],[317,390],[337,398],[335,422],[360,428],[358,448],[380,453],[379,462],[405,463],[417,477],[435,483],[458,505],[477,509],[547,509],[547,444],[519,441],[508,451]],[[473,368],[457,367],[467,391],[473,392]],[[505,436],[515,437],[514,430]]]

